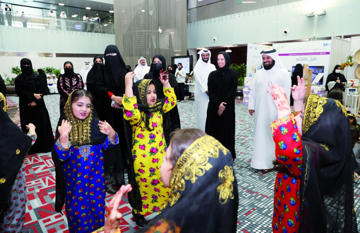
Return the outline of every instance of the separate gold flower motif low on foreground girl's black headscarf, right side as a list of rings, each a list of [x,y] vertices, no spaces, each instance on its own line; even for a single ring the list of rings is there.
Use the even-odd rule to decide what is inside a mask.
[[[220,193],[219,202],[220,204],[225,204],[228,201],[228,198],[234,199],[234,187],[233,182],[234,172],[233,168],[225,165],[224,170],[220,170],[219,172],[219,180],[222,184],[220,184],[216,190]]]

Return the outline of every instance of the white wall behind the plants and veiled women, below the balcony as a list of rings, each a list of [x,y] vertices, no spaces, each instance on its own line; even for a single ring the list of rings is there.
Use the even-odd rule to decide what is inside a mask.
[[[20,60],[24,57],[0,57],[0,64],[1,64],[1,73],[0,75],[5,78],[4,73],[9,75],[10,77],[16,77],[16,75],[10,73],[11,67],[18,66],[20,67]],[[48,57],[27,57],[31,60],[32,68],[38,69],[47,66],[52,66],[57,69],[62,69],[64,62],[70,61],[73,64],[74,72],[78,73],[82,67],[84,66],[85,62],[90,62],[90,65],[93,64],[93,57],[89,58],[67,58],[67,57],[55,57],[55,58],[48,58]]]

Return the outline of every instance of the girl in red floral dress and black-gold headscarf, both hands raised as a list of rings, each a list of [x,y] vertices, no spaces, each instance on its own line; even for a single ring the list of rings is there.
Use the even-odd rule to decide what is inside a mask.
[[[357,232],[346,109],[312,93],[304,103],[305,82],[297,79],[293,113],[281,86],[267,89],[278,108],[271,124],[278,171],[273,232]]]

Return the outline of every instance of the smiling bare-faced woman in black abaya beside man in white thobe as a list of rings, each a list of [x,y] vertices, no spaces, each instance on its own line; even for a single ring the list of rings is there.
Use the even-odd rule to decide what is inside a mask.
[[[205,132],[219,140],[235,154],[235,94],[238,75],[229,68],[230,56],[226,52],[217,54],[219,68],[209,74],[207,81],[209,104]]]

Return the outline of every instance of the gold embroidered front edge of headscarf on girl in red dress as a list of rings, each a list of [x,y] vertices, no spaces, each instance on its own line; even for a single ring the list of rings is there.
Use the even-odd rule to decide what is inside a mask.
[[[309,98],[307,99],[304,118],[302,121],[303,134],[309,130],[310,126],[314,125],[321,113],[323,113],[323,106],[327,103],[327,99],[328,98],[310,93]]]

